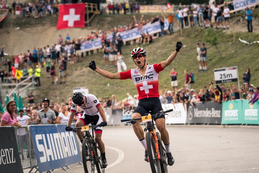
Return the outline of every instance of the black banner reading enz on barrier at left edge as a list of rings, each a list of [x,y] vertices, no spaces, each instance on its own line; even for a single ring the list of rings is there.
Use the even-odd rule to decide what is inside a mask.
[[[0,172],[23,173],[14,127],[0,127],[0,131]]]

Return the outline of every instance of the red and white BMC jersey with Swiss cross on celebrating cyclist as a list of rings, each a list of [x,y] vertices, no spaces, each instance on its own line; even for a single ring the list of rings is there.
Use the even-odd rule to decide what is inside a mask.
[[[131,79],[138,90],[138,99],[148,97],[159,97],[158,92],[158,74],[163,68],[161,63],[147,64],[144,77],[140,74],[138,68],[130,69],[127,72],[120,72],[121,79]]]

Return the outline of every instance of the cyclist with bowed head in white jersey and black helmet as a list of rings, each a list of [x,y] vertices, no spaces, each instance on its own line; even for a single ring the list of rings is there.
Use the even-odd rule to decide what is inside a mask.
[[[75,92],[72,95],[72,106],[67,122],[66,131],[70,131],[73,129],[71,127],[71,123],[77,111],[77,106],[79,106],[84,111],[84,115],[77,120],[76,127],[82,127],[84,125],[88,125],[91,122],[93,122],[94,125],[100,124],[102,125],[102,127],[107,125],[105,112],[96,96],[92,94],[87,94],[84,96],[80,92]],[[96,127],[96,129],[94,129],[94,133],[95,140],[99,146],[99,150],[102,155],[102,167],[106,168],[108,164],[105,157],[104,143],[101,139],[102,127]],[[83,142],[83,132],[81,132],[81,130],[77,131],[77,136],[80,141]]]

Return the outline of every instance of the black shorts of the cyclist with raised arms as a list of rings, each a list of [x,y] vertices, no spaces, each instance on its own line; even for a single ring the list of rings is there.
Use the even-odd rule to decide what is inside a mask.
[[[139,113],[141,116],[145,116],[145,114],[149,113],[151,111],[151,115],[161,111],[162,105],[160,102],[159,97],[148,97],[144,99],[140,99],[138,101],[138,106],[136,109],[133,111],[133,113]],[[165,116],[159,116],[155,118],[154,120],[156,121],[159,118],[165,119]]]

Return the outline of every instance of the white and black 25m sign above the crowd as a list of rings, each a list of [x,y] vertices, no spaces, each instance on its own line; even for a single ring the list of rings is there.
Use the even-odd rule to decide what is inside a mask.
[[[238,80],[237,66],[214,69],[214,78],[215,78],[216,84],[237,81]]]

